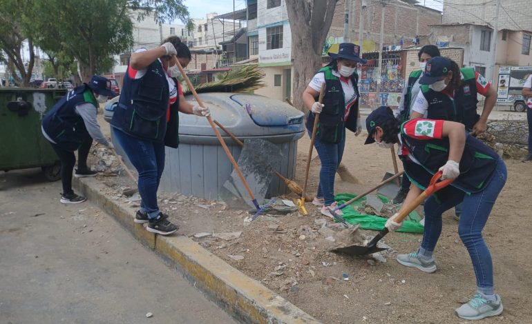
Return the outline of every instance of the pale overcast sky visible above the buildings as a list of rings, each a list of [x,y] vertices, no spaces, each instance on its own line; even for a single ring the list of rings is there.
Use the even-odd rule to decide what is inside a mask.
[[[444,0],[417,0],[419,4],[442,10],[441,4]],[[246,8],[245,0],[234,0],[235,10]],[[185,6],[189,8],[192,18],[205,19],[205,14],[216,12],[218,14],[227,14],[233,12],[233,0],[184,0]]]

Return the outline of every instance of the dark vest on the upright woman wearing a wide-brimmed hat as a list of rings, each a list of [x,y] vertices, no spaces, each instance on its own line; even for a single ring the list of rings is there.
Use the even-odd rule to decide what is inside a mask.
[[[344,133],[344,128],[352,132],[357,132],[357,118],[359,114],[359,76],[355,72],[351,75],[351,82],[354,92],[357,94],[357,102],[352,105],[345,119],[345,97],[339,77],[332,74],[332,67],[327,65],[319,70],[325,75],[325,95],[323,96],[323,110],[320,114],[316,138],[327,143],[340,143]],[[314,126],[314,113],[309,111],[307,115],[307,130]]]

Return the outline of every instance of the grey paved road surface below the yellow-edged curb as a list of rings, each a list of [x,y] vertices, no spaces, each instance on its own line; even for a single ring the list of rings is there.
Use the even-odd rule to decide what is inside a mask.
[[[0,173],[0,323],[236,323],[108,215],[59,192],[37,169]]]

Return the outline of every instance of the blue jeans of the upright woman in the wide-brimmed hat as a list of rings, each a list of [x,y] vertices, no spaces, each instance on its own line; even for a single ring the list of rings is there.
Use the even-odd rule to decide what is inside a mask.
[[[312,137],[312,131],[307,130],[307,132]],[[316,197],[325,199],[325,205],[328,206],[334,203],[334,176],[342,161],[343,148],[345,148],[345,128],[340,143],[327,143],[316,137],[314,147],[321,160],[320,183]]]

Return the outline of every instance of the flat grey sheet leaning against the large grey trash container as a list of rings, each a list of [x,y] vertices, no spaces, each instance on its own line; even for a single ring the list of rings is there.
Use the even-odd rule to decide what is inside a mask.
[[[273,168],[281,164],[281,159],[281,152],[274,143],[264,139],[244,141],[244,147],[238,157],[238,167],[259,205],[263,204],[269,184],[272,182]],[[235,170],[220,188],[220,198],[234,208],[255,208]]]

